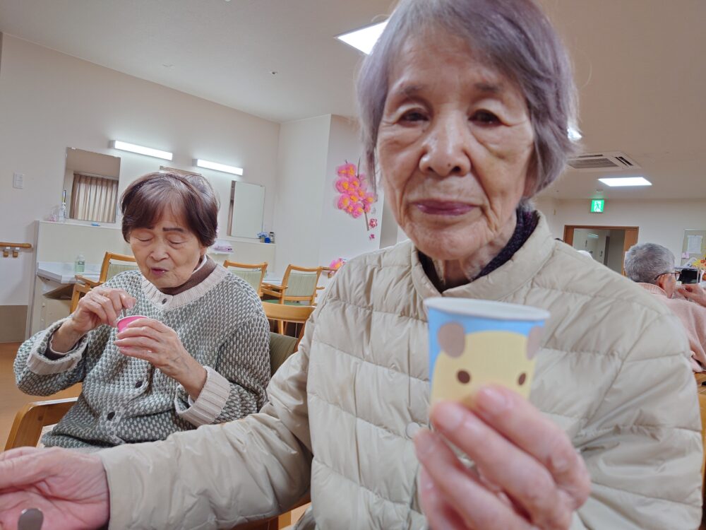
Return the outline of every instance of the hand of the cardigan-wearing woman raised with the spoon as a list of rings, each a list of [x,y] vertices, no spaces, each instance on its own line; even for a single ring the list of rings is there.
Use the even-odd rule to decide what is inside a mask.
[[[52,349],[65,353],[73,348],[81,337],[98,326],[115,327],[124,309],[135,305],[135,298],[122,289],[97,287],[78,301],[78,307],[61,324],[52,337]]]

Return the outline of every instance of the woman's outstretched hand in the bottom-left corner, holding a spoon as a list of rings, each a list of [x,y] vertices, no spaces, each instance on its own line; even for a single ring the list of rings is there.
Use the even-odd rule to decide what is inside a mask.
[[[66,449],[21,447],[0,454],[0,530],[37,508],[45,528],[100,528],[109,517],[108,482],[100,459]]]

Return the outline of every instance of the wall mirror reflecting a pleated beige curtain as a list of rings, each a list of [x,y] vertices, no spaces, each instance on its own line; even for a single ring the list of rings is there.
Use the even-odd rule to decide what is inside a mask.
[[[66,148],[66,211],[68,217],[115,223],[120,157]]]

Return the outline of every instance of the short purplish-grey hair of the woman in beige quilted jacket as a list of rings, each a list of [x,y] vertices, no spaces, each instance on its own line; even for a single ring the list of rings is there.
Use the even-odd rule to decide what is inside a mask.
[[[534,129],[533,196],[554,182],[575,153],[568,127],[575,124],[577,102],[566,49],[534,0],[400,0],[358,76],[366,170],[375,175],[390,66],[407,37],[439,26],[465,36],[474,53],[520,87]]]

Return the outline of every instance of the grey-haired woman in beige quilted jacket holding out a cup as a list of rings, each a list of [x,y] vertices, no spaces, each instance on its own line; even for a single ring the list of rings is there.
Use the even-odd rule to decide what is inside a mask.
[[[409,241],[340,269],[263,410],[80,464],[32,461],[31,476],[0,478],[13,488],[0,508],[47,502],[18,490],[49,474],[55,490],[73,484],[80,465],[99,486],[62,506],[115,529],[228,527],[307,491],[297,529],[698,526],[699,414],[676,318],[556,242],[531,206],[573,150],[569,61],[537,4],[402,0],[358,98],[370,174]],[[529,400],[510,389],[522,379],[510,360],[510,388],[429,411],[430,299],[541,310],[542,336],[520,333]],[[458,331],[441,343],[463,358],[474,338]],[[493,344],[484,354],[502,355]],[[30,457],[0,461],[0,477]]]

